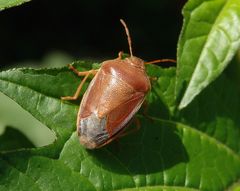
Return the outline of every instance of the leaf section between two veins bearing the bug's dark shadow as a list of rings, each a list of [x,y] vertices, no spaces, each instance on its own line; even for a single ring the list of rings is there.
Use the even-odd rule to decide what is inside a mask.
[[[221,190],[231,175],[238,175],[239,156],[216,140],[183,124],[146,119],[141,124],[141,132],[123,138],[118,149],[110,145],[86,151],[73,135],[60,160],[88,177],[98,190],[164,185]]]

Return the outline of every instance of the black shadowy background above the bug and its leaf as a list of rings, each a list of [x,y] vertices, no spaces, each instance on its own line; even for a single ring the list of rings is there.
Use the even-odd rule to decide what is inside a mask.
[[[74,59],[115,58],[128,52],[123,18],[134,55],[176,58],[184,0],[32,0],[0,12],[0,69],[41,61],[54,51]],[[66,63],[67,64],[67,63]]]

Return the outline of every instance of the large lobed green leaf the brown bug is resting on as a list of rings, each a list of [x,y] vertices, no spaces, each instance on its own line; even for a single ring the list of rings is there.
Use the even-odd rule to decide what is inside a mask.
[[[89,64],[78,62],[75,67],[89,69]],[[148,115],[154,118],[140,112],[137,133],[97,150],[79,144],[75,132],[79,101],[60,100],[74,94],[81,78],[66,67],[1,72],[0,91],[53,130],[57,140],[47,147],[2,153],[0,190],[26,190],[32,185],[33,190],[222,191],[237,183],[240,92],[235,81],[222,75],[189,110],[175,113],[175,69],[147,70],[150,76],[158,74],[147,98]],[[223,84],[226,92],[220,88]],[[213,92],[212,104],[207,104]]]

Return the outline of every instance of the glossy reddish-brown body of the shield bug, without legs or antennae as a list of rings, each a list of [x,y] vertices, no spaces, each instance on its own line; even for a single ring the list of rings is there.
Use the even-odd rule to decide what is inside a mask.
[[[150,88],[140,58],[103,62],[80,104],[77,119],[80,143],[94,149],[114,140],[139,110]]]

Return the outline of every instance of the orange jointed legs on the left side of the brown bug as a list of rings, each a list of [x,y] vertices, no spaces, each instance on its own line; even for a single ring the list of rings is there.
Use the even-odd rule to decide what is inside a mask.
[[[87,78],[89,77],[90,74],[95,75],[98,70],[89,70],[89,71],[84,71],[84,72],[80,72],[78,71],[76,68],[74,68],[72,65],[69,65],[69,68],[78,76],[84,76],[83,80],[81,81],[81,83],[79,84],[75,94],[73,96],[65,96],[65,97],[61,97],[61,100],[76,100],[79,97],[79,94],[81,92],[81,89],[83,87],[83,84],[86,82]]]

